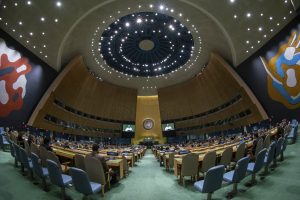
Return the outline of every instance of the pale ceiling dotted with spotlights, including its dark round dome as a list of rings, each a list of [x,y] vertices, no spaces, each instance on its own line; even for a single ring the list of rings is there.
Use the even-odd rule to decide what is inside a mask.
[[[76,55],[99,81],[139,95],[237,66],[278,33],[300,0],[4,0],[0,27],[57,71]]]

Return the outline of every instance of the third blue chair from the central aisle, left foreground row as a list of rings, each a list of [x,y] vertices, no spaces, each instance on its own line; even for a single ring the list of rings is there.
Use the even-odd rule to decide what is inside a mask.
[[[46,178],[49,176],[48,169],[41,166],[40,159],[35,153],[31,153],[31,161],[34,174],[42,179],[43,188],[47,191]]]

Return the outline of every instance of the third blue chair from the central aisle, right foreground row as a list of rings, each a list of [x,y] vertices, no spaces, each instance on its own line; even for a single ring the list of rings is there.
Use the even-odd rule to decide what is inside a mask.
[[[250,162],[247,167],[247,172],[252,174],[251,182],[248,185],[253,185],[256,183],[255,176],[263,168],[264,159],[266,156],[267,149],[262,149],[256,156],[255,162]]]

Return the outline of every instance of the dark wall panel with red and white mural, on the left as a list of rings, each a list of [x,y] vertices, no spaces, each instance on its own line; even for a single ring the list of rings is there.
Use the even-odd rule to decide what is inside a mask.
[[[56,76],[55,70],[0,29],[0,126],[27,123]]]

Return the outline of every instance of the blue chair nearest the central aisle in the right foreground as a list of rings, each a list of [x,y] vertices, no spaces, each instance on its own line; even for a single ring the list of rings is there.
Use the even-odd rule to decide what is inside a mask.
[[[195,188],[202,193],[207,193],[207,199],[210,200],[212,193],[222,186],[224,171],[224,165],[210,168],[204,180],[195,182]]]

